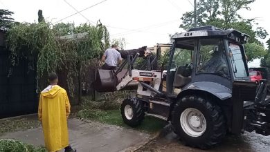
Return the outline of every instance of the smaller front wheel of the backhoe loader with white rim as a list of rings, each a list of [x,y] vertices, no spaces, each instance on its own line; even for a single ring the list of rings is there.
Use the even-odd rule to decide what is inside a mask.
[[[121,104],[121,115],[125,124],[138,126],[144,119],[143,102],[136,98],[125,99]]]

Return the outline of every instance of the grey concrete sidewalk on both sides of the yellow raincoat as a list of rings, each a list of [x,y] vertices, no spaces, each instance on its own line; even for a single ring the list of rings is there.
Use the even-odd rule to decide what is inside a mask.
[[[0,136],[28,144],[44,145],[42,128],[17,131]],[[150,134],[100,122],[84,122],[77,118],[69,120],[69,141],[78,152],[132,151],[150,140]]]

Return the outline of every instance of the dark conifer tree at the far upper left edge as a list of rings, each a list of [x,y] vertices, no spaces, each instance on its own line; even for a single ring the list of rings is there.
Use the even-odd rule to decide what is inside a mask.
[[[3,10],[0,9],[0,29],[1,30],[8,30],[12,23],[14,23],[14,19],[11,17],[11,15],[14,12],[11,12],[9,10]]]

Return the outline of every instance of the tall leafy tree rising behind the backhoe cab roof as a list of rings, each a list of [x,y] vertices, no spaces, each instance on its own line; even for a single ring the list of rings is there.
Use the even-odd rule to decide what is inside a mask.
[[[255,19],[243,19],[238,13],[239,10],[249,8],[249,4],[255,0],[199,0],[197,3],[197,24],[199,26],[212,25],[222,28],[234,28],[250,35],[249,44],[245,45],[246,55],[249,61],[263,57],[266,54],[262,42],[258,39],[265,39],[268,33],[264,28],[258,27],[253,29],[254,25],[258,26]],[[188,30],[194,25],[194,12],[186,12],[181,19],[180,28]]]

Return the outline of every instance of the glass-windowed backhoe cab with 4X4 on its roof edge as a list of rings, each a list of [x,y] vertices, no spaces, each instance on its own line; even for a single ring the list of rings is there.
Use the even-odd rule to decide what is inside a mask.
[[[207,86],[202,82],[218,83],[232,90],[234,80],[249,81],[242,46],[249,35],[204,26],[173,35],[172,39],[167,75],[163,79],[167,93],[178,95],[189,84]]]

